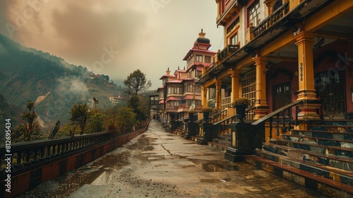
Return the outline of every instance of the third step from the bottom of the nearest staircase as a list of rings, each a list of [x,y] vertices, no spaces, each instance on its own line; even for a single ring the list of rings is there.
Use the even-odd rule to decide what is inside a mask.
[[[297,158],[301,161],[329,165],[330,167],[339,168],[347,171],[353,170],[352,158],[334,156],[325,153],[316,153],[313,151],[306,151],[299,148],[289,148],[287,146],[280,146],[277,144],[269,143],[263,144],[263,150],[269,151],[271,153],[280,154],[281,156]]]

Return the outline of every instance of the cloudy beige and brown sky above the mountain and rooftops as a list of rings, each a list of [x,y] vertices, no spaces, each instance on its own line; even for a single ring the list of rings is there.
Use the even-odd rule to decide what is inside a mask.
[[[216,13],[214,0],[0,0],[0,33],[114,81],[140,69],[155,89],[201,28],[223,47]]]

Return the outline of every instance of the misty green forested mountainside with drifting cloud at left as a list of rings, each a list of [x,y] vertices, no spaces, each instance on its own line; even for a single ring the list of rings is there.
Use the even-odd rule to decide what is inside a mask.
[[[73,103],[88,103],[98,98],[97,108],[109,105],[109,97],[118,95],[118,88],[107,78],[92,74],[83,66],[68,64],[47,52],[23,47],[0,34],[0,100],[4,107],[25,111],[29,100],[35,102],[38,121],[44,132],[60,120],[65,124]],[[13,110],[3,112],[1,119],[13,117]],[[19,117],[20,115],[18,115]]]

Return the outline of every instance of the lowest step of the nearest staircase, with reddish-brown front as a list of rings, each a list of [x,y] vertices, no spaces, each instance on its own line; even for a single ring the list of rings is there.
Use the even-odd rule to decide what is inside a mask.
[[[352,197],[353,187],[319,175],[309,173],[289,165],[271,161],[260,156],[244,156],[246,163],[266,170],[278,177],[285,178],[311,190],[321,192],[330,197]]]

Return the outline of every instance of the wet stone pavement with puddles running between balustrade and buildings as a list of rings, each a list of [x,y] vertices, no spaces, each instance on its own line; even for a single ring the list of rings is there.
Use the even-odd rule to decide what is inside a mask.
[[[20,197],[324,197],[246,163],[231,163],[210,146],[147,132],[106,156]]]

